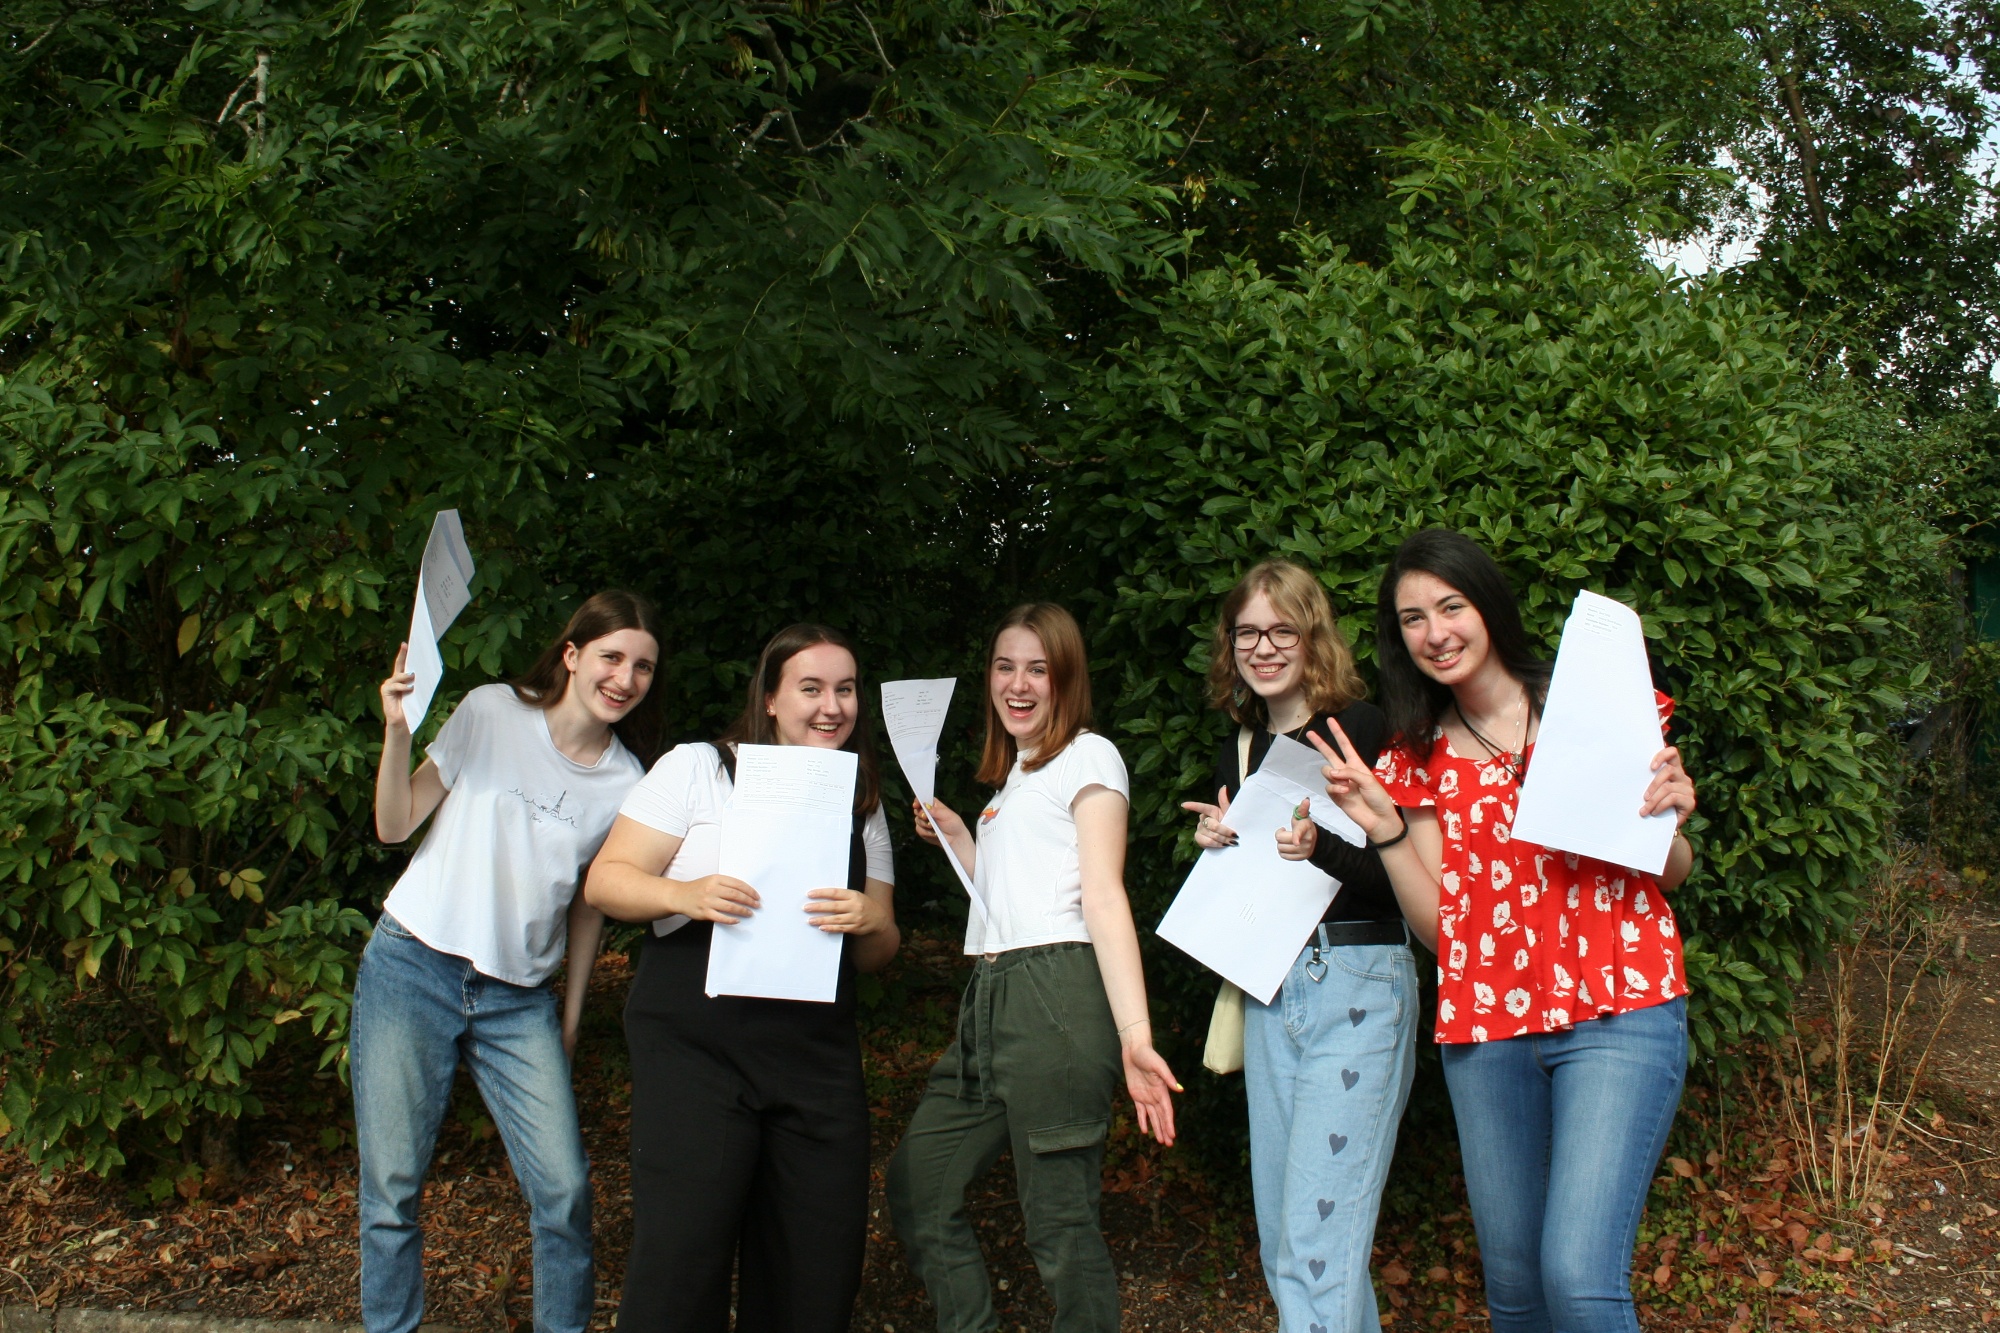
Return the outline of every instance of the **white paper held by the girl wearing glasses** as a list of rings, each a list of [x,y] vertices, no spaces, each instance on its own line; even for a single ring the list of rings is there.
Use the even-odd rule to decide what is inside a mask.
[[[1286,739],[1276,737],[1274,747],[1278,743]],[[1318,755],[1306,753],[1314,755],[1318,775]],[[1324,783],[1316,791],[1314,805],[1328,803]],[[1160,939],[1264,1005],[1340,891],[1340,883],[1310,861],[1278,855],[1278,829],[1292,825],[1292,811],[1310,795],[1266,759],[1230,803],[1228,827],[1236,831],[1236,845],[1204,851],[1160,921]]]

